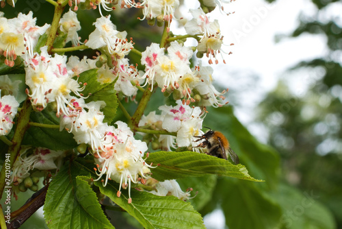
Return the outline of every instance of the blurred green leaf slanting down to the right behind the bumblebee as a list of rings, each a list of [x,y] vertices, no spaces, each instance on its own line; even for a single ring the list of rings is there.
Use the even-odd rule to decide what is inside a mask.
[[[222,132],[237,153],[240,162],[250,171],[251,176],[265,180],[270,187],[278,183],[280,158],[278,153],[257,141],[233,114],[231,106],[211,109],[204,126]]]

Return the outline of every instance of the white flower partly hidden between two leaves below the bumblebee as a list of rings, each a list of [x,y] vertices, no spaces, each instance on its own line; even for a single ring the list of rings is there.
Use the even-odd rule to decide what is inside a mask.
[[[192,191],[192,189],[189,189],[186,192],[183,192],[181,186],[179,186],[176,180],[164,180],[163,182],[158,182],[155,184],[155,189],[155,191],[150,191],[150,193],[159,196],[173,195],[184,201],[189,200],[190,191]]]

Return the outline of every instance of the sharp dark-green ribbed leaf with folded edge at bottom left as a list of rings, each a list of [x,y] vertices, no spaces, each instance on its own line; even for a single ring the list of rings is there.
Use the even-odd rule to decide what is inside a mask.
[[[96,193],[83,180],[88,177],[88,171],[66,162],[53,178],[44,204],[49,228],[114,228],[105,217]]]

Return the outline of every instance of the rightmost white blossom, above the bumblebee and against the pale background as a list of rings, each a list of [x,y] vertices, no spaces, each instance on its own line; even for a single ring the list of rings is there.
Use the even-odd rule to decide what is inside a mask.
[[[201,106],[213,106],[215,108],[223,106],[228,102],[225,102],[225,97],[223,96],[227,91],[224,90],[221,93],[218,92],[213,86],[213,69],[210,66],[195,67],[195,75],[200,80],[195,86],[195,90],[201,96],[200,105]]]

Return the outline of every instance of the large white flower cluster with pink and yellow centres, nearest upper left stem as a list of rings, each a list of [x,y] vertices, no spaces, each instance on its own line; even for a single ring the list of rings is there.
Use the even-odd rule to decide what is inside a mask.
[[[84,86],[73,79],[73,74],[66,69],[66,56],[47,53],[47,47],[42,47],[41,53],[25,61],[26,84],[30,91],[27,95],[36,110],[43,110],[49,102],[57,103],[57,115],[70,115],[68,106],[72,107],[70,93],[81,97]]]

